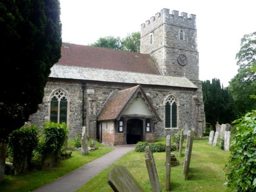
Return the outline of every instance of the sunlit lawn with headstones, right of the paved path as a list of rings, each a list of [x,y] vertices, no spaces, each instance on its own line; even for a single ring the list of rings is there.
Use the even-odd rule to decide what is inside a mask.
[[[162,141],[162,140],[161,140]],[[186,139],[183,142],[183,151],[180,162],[184,161]],[[178,159],[178,152],[174,152]],[[190,160],[188,180],[184,180],[183,164],[171,169],[171,191],[225,191],[226,187],[223,169],[228,163],[230,152],[222,151],[219,146],[208,144],[208,138],[195,139]],[[162,191],[165,191],[165,152],[154,153],[157,166],[158,177]],[[145,191],[152,191],[148,179],[144,153],[134,150],[124,155],[113,165],[106,168],[94,177],[91,181],[83,185],[78,191],[113,191],[106,183],[106,178],[110,169],[116,165],[125,166],[133,177],[138,181]]]

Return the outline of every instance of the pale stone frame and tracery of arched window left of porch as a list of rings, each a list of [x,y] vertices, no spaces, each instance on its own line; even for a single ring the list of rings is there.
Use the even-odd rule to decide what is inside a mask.
[[[58,95],[56,95],[56,93],[59,92]],[[62,93],[62,95],[60,94]],[[60,104],[60,100],[61,98],[66,98],[67,99],[67,126],[69,125],[69,116],[70,116],[70,97],[69,97],[69,94],[66,90],[62,89],[62,88],[57,88],[55,90],[53,90],[50,94],[50,97],[49,97],[49,120],[51,120],[51,100],[53,97],[57,97],[58,98],[58,120],[57,122],[59,123],[59,104]]]

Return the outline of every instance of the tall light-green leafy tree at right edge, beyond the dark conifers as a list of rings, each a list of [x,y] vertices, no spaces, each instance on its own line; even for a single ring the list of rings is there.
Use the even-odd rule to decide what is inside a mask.
[[[234,107],[240,115],[256,108],[256,32],[244,35],[236,55],[238,74],[229,82]]]

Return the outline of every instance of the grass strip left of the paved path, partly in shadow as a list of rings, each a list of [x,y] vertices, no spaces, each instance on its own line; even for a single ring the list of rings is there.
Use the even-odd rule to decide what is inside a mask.
[[[72,141],[68,142],[69,144]],[[97,143],[98,144],[98,143]],[[98,146],[98,145],[96,145]],[[93,161],[114,150],[114,147],[99,147],[96,151],[91,151],[86,156],[82,156],[80,151],[73,151],[70,158],[61,160],[60,164],[51,171],[35,170],[17,176],[5,175],[4,181],[0,184],[0,191],[21,192],[31,191],[46,183],[49,183],[63,175],[72,172],[82,165]]]

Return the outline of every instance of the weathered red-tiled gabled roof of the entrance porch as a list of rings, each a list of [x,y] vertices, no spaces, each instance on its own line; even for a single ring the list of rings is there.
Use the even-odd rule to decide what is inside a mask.
[[[137,93],[139,91],[143,95],[143,98],[145,99],[148,106],[150,106],[150,109],[154,114],[155,118],[157,119],[157,121],[160,121],[160,118],[157,115],[153,105],[147,99],[146,94],[144,93],[140,85],[129,89],[114,92],[108,99],[108,101],[105,102],[101,112],[98,115],[98,120],[102,121],[119,119],[122,115],[122,112],[124,112],[127,109],[130,103],[133,101],[133,98],[137,96]]]

